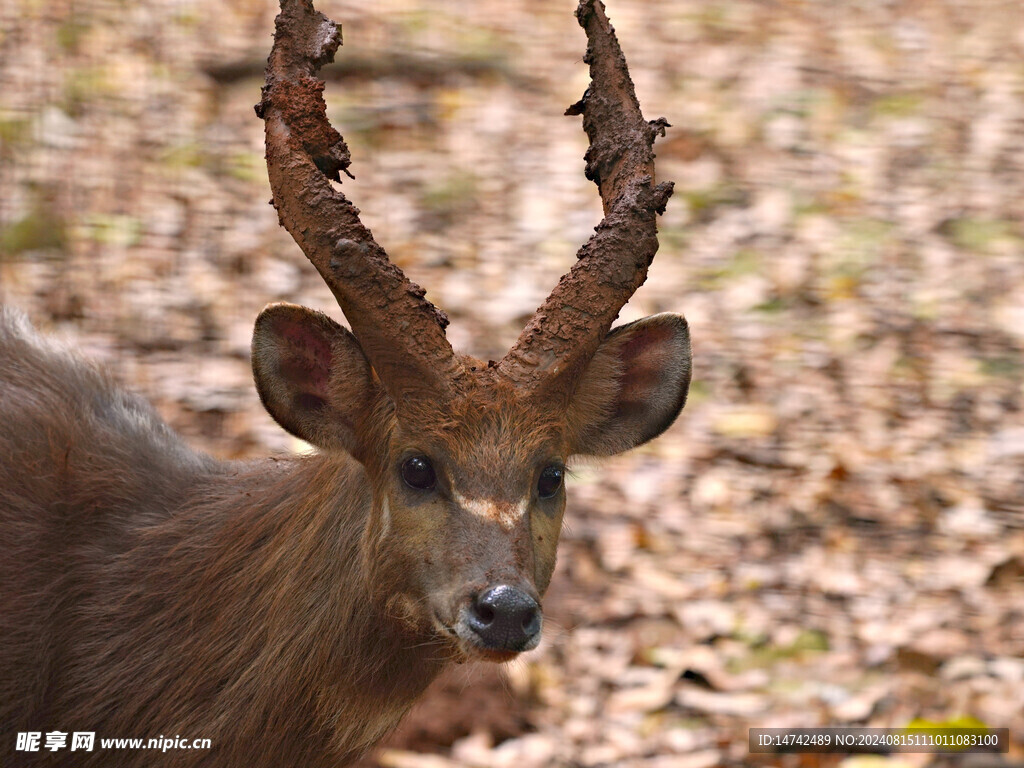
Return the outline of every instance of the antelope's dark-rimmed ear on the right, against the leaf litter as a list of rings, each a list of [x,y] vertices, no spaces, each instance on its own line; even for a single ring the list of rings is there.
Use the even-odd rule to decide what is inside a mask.
[[[587,366],[567,419],[572,453],[610,456],[662,434],[690,387],[690,332],[681,314],[613,329]]]

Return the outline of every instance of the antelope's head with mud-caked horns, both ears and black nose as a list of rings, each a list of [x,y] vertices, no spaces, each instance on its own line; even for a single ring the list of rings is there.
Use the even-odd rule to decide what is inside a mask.
[[[541,637],[569,458],[639,445],[686,400],[682,316],[610,330],[657,250],[672,184],[655,183],[652,145],[667,123],[643,119],[600,0],[583,0],[592,84],[566,114],[583,115],[604,218],[501,361],[457,354],[446,316],[331,183],[349,153],[315,75],[341,43],[338,27],[305,0],[282,7],[256,108],[273,203],[351,331],[268,306],[253,337],[257,389],[286,430],[365,467],[371,599],[457,658],[510,658]]]

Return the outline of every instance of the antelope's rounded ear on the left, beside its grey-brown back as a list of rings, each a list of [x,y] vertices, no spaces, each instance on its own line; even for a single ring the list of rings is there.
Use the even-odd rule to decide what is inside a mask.
[[[256,318],[256,391],[273,420],[318,449],[360,455],[358,425],[378,389],[352,334],[322,312],[270,304]]]

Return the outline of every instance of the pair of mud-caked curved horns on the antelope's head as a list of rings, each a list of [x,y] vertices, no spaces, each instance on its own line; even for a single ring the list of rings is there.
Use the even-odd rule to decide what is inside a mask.
[[[672,182],[655,183],[655,136],[665,119],[640,112],[626,58],[600,0],[577,18],[589,41],[591,85],[566,111],[582,115],[590,139],[587,177],[604,218],[578,261],[497,366],[529,396],[564,406],[623,305],[647,276],[657,251],[656,216]],[[266,121],[266,160],[282,224],[331,286],[342,310],[398,403],[408,395],[454,396],[492,371],[465,370],[444,336],[447,317],[387,257],[333,187],[350,156],[328,122],[319,68],[341,45],[337,25],[309,2],[282,3],[267,84],[257,114]],[[383,317],[387,322],[382,322]]]

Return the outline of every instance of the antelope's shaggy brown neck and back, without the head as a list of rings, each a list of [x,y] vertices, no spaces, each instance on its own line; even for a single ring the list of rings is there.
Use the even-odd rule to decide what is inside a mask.
[[[13,751],[61,730],[95,732],[81,766],[334,768],[442,668],[369,575],[354,460],[215,462],[3,310],[0,393],[3,765],[66,762]],[[98,749],[159,736],[212,750]]]

